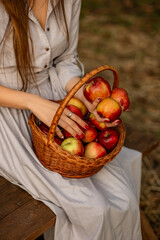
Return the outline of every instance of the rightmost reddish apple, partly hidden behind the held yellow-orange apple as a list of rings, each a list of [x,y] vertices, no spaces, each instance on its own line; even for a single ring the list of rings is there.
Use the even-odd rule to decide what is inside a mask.
[[[127,110],[130,105],[128,93],[123,88],[114,88],[111,93],[111,98],[116,100],[119,105],[121,106],[123,104],[123,111]]]

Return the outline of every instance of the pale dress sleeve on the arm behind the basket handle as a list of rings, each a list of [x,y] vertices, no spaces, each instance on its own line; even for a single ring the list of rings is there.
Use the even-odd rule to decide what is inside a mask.
[[[68,29],[69,46],[62,55],[57,57],[55,61],[56,72],[64,91],[67,82],[71,78],[76,76],[82,77],[84,75],[84,67],[79,61],[77,54],[81,0],[75,0],[72,7],[71,23]]]

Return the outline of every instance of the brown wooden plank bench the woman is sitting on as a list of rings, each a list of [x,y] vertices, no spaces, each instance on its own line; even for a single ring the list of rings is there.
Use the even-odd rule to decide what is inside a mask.
[[[143,156],[158,146],[158,140],[129,127],[125,146],[139,150]],[[43,239],[42,234],[55,224],[55,214],[42,202],[0,177],[0,240]],[[158,240],[141,211],[143,240]]]

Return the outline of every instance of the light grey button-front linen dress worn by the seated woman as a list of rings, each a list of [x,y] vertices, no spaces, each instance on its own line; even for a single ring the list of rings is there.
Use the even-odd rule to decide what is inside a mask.
[[[74,76],[83,75],[77,55],[81,1],[64,2],[69,47],[50,3],[45,31],[32,11],[29,12],[37,84],[41,96],[47,99],[62,99],[66,83]],[[8,19],[0,5],[0,52]],[[12,34],[6,42],[4,59],[0,61],[0,84],[21,89]],[[33,84],[28,92],[39,94]],[[34,154],[29,114],[25,110],[0,108],[0,175],[25,189],[57,215],[55,227],[45,233],[45,239],[140,240],[141,153],[124,147],[94,176],[64,178],[44,168]]]

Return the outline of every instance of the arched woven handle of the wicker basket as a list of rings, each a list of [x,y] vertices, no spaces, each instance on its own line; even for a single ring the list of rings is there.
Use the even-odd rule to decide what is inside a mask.
[[[69,93],[66,95],[62,103],[60,104],[59,108],[57,109],[56,114],[54,115],[54,118],[51,123],[51,127],[49,129],[48,133],[48,146],[51,145],[51,143],[54,141],[54,135],[55,135],[55,130],[58,124],[58,121],[64,111],[65,106],[69,102],[69,100],[73,97],[73,95],[93,76],[95,76],[97,73],[100,73],[104,70],[110,70],[113,72],[114,75],[114,83],[113,83],[113,88],[116,88],[119,86],[119,76],[117,70],[108,65],[102,65],[99,66],[98,68],[93,69],[91,72],[87,73],[84,77],[81,78],[81,80],[74,85],[74,87],[69,91]]]

